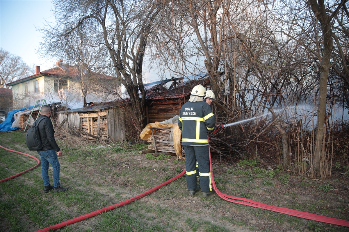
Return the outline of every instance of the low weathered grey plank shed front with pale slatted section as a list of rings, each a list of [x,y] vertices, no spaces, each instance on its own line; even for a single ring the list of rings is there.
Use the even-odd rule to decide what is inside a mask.
[[[57,112],[58,125],[75,133],[75,127],[88,134],[112,141],[124,141],[126,126],[124,111],[119,105],[95,105]],[[76,129],[75,128],[75,129]],[[87,136],[87,135],[82,135]]]

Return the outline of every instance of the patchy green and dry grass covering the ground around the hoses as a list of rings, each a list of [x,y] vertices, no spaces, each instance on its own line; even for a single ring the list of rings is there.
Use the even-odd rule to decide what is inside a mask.
[[[36,152],[26,150],[24,135],[18,132],[0,133],[0,144],[38,157]],[[13,180],[0,183],[0,226],[5,225],[7,228],[5,231],[34,231],[113,205],[163,183],[185,167],[185,161],[169,157],[139,160],[138,150],[142,150],[144,144],[125,143],[121,144],[121,147],[106,149],[91,149],[98,145],[83,148],[59,145],[63,151],[63,156],[59,158],[61,183],[62,186],[70,187],[69,191],[44,194],[40,167]],[[35,164],[36,161],[29,157],[0,150],[2,178]],[[272,173],[270,170],[257,167],[258,165],[259,163],[254,160],[242,161],[238,168],[225,169],[227,171],[222,175],[215,174],[218,189],[229,195],[240,195],[271,205],[344,219],[345,215],[341,212],[347,210],[345,207],[339,206],[334,207],[336,210],[329,210],[325,208],[326,202],[322,201],[303,203],[282,201],[282,194],[285,193],[280,191],[280,186],[290,187],[290,183],[287,186],[281,183],[285,179],[278,179],[284,173]],[[49,170],[49,176],[52,177],[52,169]],[[50,181],[53,182],[52,178]],[[336,185],[334,182],[319,184],[309,180],[299,182],[296,186],[312,188],[324,194],[324,197],[329,197],[335,195],[331,189]],[[270,199],[259,198],[264,193],[270,196]],[[277,226],[287,222],[293,229],[298,228],[299,231],[325,227],[328,231],[345,231],[345,228],[319,222],[312,222],[313,224],[308,226],[308,220],[304,222],[297,217],[230,203],[216,194],[208,198],[201,197],[200,194],[201,192],[194,197],[188,196],[186,179],[182,176],[145,198],[105,212],[83,223],[66,226],[60,231],[229,231],[231,227],[222,226],[222,221],[224,225],[264,231],[258,225],[250,224],[245,217],[231,217],[231,214],[225,213],[228,211],[234,212],[235,215],[254,215],[255,220],[261,218],[260,222],[268,221],[269,224]],[[289,196],[295,198],[297,194]],[[196,201],[195,204],[192,203],[193,200]],[[345,199],[341,201],[348,203]],[[191,203],[186,205],[186,202]],[[288,205],[283,206],[285,203]],[[216,208],[212,208],[212,205]],[[221,210],[224,213],[221,213]],[[212,221],[203,219],[207,217],[212,218]]]

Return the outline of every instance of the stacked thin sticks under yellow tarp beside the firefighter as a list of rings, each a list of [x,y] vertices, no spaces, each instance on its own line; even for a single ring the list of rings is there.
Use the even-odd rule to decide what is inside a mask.
[[[154,129],[155,136],[155,145],[154,146],[154,137],[151,135],[148,139],[148,149],[157,150],[157,152],[171,152],[176,153],[174,151],[173,143],[170,144],[170,134],[171,128],[156,128]],[[182,155],[184,155],[184,150],[182,149]]]

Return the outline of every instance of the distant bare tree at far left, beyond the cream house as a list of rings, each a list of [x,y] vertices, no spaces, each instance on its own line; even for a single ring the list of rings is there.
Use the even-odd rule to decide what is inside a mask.
[[[28,76],[29,69],[21,57],[0,48],[0,88],[4,88],[6,83]]]

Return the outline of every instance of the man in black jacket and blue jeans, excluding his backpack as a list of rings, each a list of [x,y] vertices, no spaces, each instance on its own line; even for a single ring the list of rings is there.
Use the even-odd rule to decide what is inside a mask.
[[[53,192],[64,192],[67,189],[60,186],[59,183],[59,170],[60,164],[58,162],[57,156],[62,155],[62,151],[57,145],[54,139],[53,125],[50,120],[51,109],[47,105],[41,107],[40,118],[35,121],[35,125],[38,128],[38,134],[42,143],[42,148],[37,150],[41,158],[41,174],[44,181],[44,192],[47,193],[50,190]],[[29,130],[28,130],[29,131]],[[28,144],[28,143],[27,143]],[[56,154],[57,152],[57,154]],[[49,180],[49,166],[52,166],[53,171],[53,186],[50,184]]]

